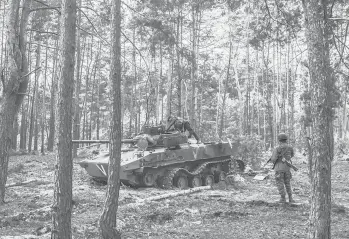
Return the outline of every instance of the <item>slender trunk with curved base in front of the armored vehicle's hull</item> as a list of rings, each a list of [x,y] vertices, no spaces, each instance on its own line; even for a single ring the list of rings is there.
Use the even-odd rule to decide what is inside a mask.
[[[111,69],[110,79],[112,86],[112,121],[110,133],[110,157],[108,164],[108,189],[103,212],[99,220],[103,239],[120,239],[121,235],[116,230],[116,213],[118,209],[120,188],[120,162],[121,162],[121,12],[120,0],[112,2],[111,21]]]

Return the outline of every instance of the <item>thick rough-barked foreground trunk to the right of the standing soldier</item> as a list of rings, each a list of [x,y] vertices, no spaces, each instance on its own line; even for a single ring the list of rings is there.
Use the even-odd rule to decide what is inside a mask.
[[[331,238],[331,162],[333,119],[338,92],[330,65],[330,1],[303,1],[311,83],[313,178],[309,239]]]

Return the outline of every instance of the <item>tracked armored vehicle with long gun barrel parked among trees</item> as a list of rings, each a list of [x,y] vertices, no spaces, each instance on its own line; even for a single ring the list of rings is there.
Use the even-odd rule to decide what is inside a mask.
[[[143,127],[142,134],[122,143],[129,147],[122,149],[120,180],[137,187],[183,189],[212,185],[225,179],[237,152],[237,145],[230,142],[190,143],[186,135],[164,133],[161,126]],[[94,179],[106,181],[108,160],[109,154],[105,153],[79,164]]]

